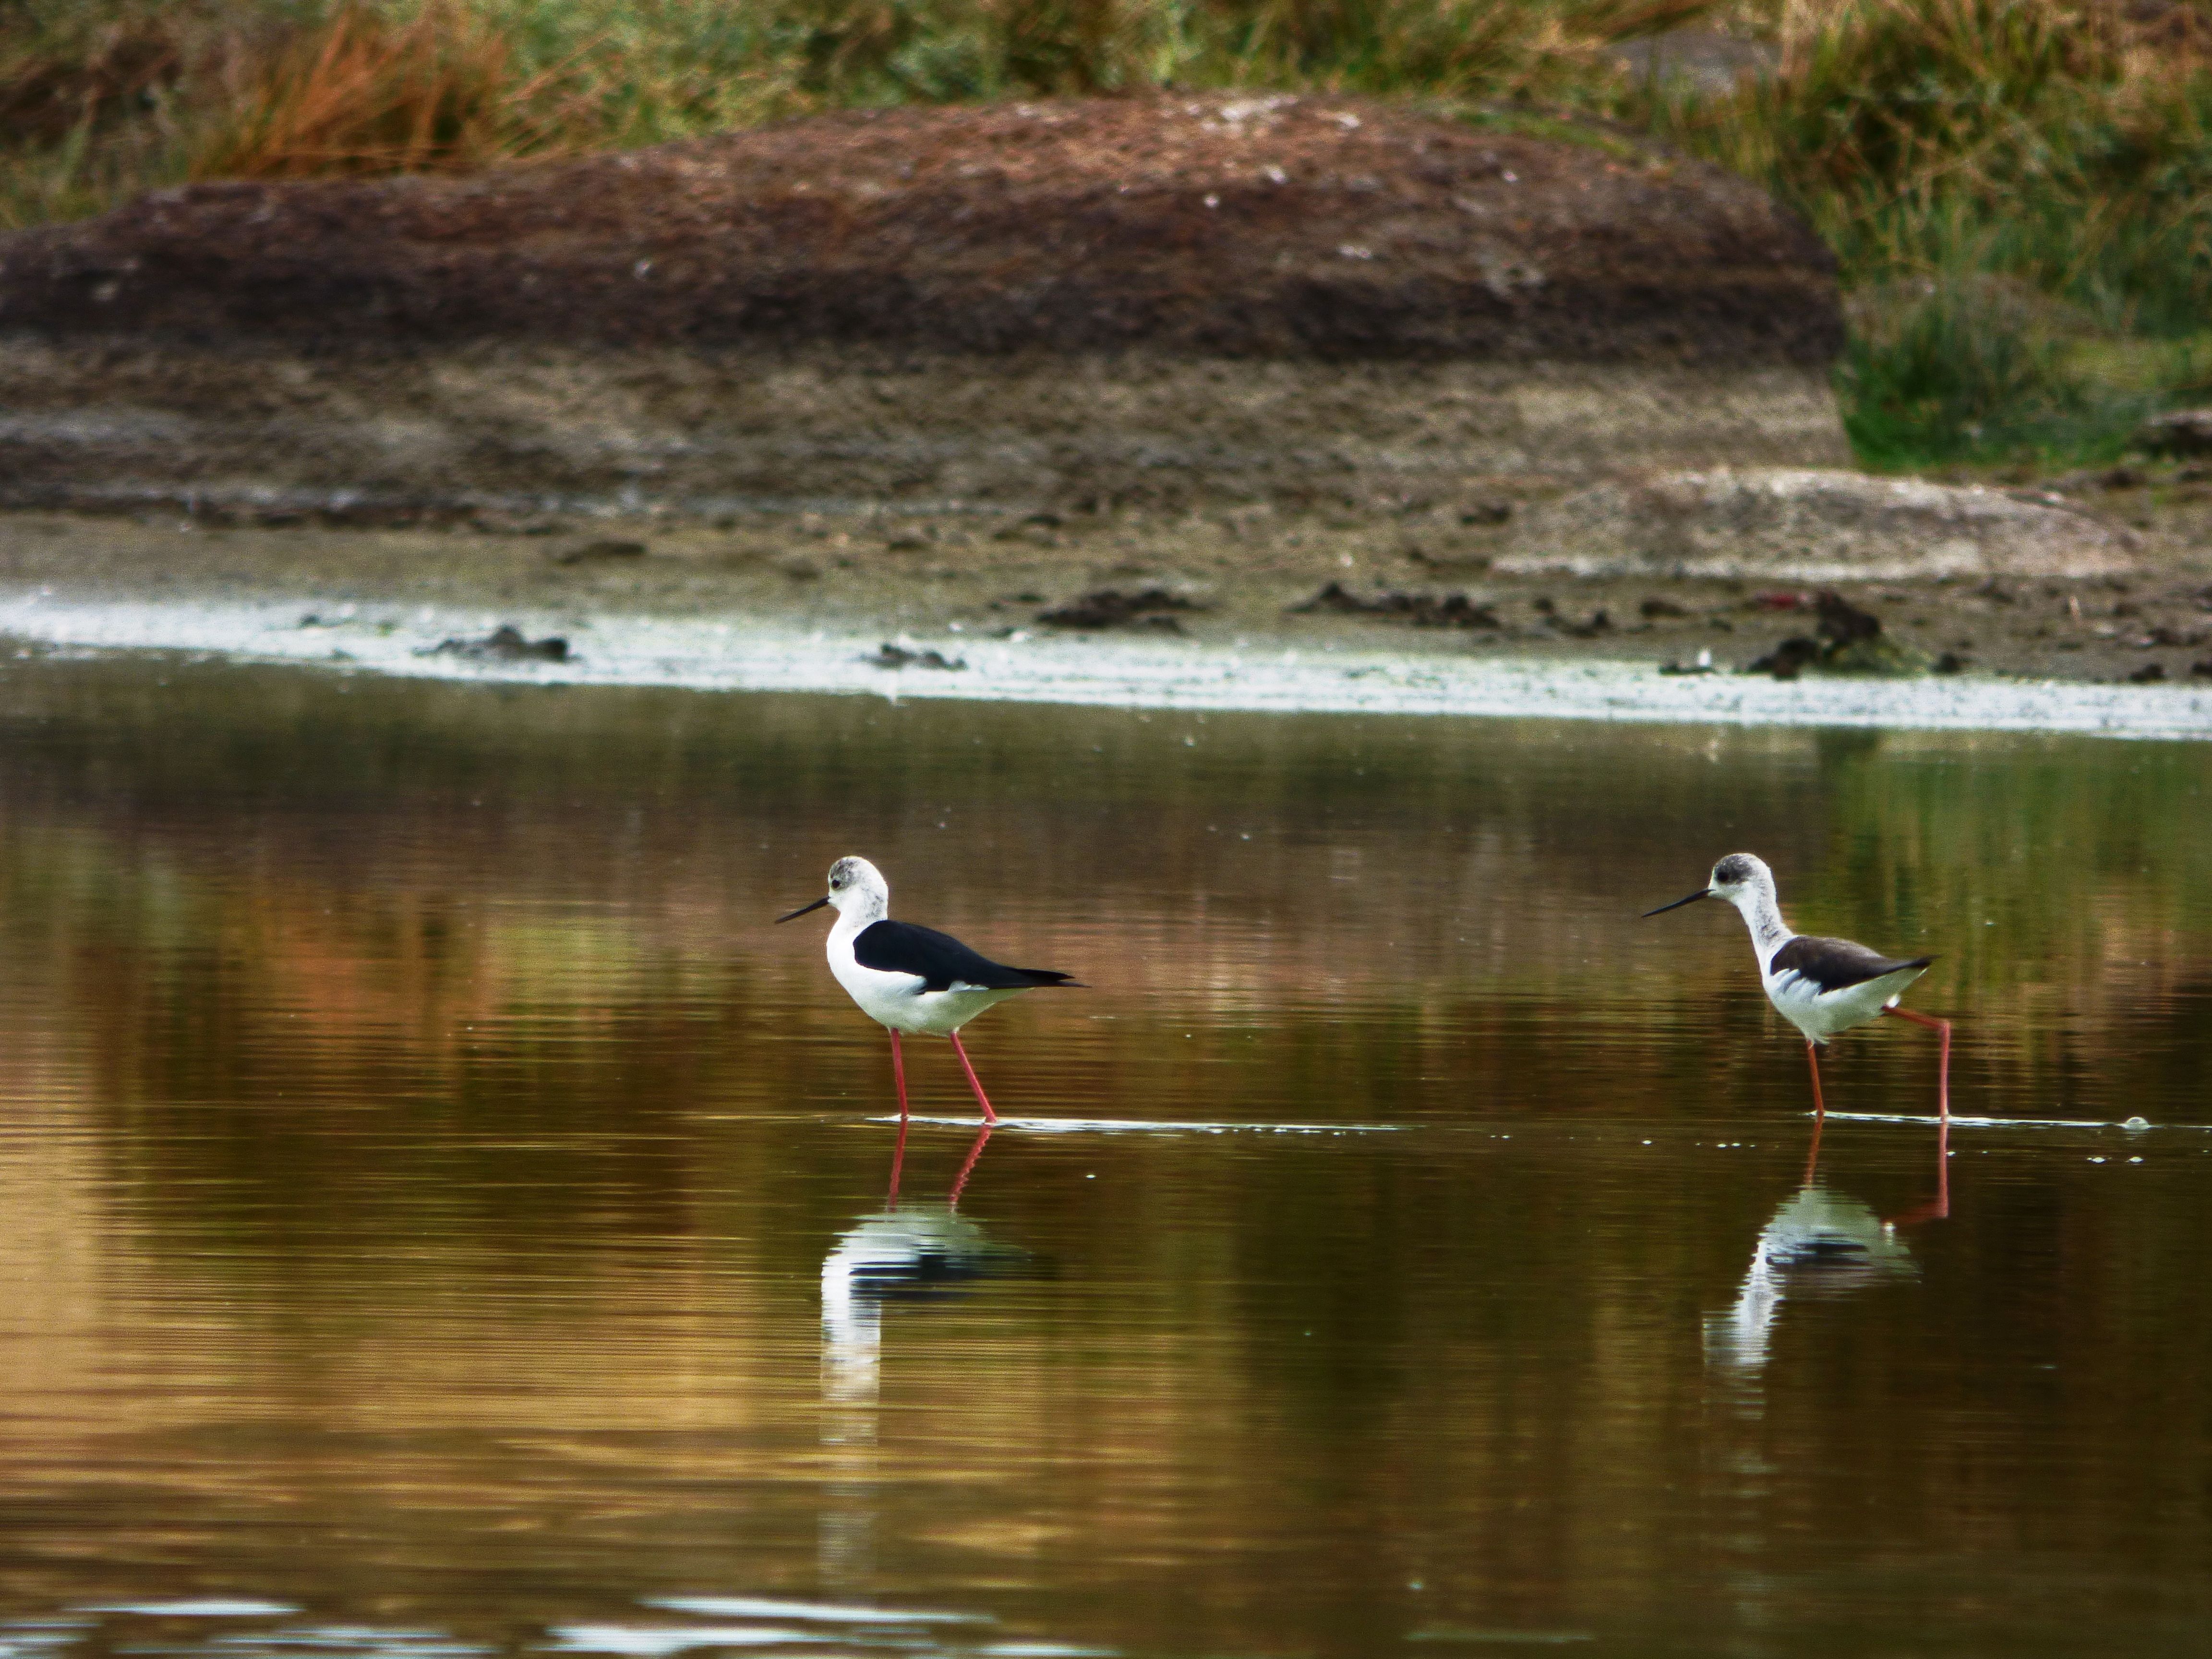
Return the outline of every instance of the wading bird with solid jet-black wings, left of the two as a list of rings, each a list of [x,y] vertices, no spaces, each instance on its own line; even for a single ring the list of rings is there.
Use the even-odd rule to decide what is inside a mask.
[[[960,1026],[995,1002],[1051,984],[1079,984],[1053,969],[1018,969],[971,951],[949,933],[914,922],[894,922],[891,885],[867,858],[838,858],[830,865],[830,891],[812,905],[801,905],[779,922],[832,905],[836,927],[830,929],[830,971],[860,1004],[860,1013],[891,1033],[891,1075],[898,1079],[898,1115],[907,1115],[907,1062],[898,1053],[898,1033],[951,1037],[960,1071],[982,1106],[982,1121],[995,1124],[991,1097],[975,1079]]]

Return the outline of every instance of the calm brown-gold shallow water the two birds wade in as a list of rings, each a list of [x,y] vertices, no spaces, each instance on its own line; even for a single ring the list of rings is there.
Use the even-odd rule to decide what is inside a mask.
[[[18,664],[0,1655],[2201,1655],[2208,785]],[[2006,1121],[1858,1033],[1805,1188],[1741,927],[1635,920],[1739,847]],[[909,1044],[885,1206],[843,852],[1088,980],[971,1031],[1079,1126]]]

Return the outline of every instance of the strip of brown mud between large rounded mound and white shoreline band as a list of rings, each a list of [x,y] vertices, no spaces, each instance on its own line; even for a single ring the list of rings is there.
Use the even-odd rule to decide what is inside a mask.
[[[1880,619],[1907,664],[2208,686],[2212,557],[2192,551],[2205,546],[2192,524],[2201,509],[2188,489],[2137,495],[2124,511],[2152,542],[2137,575],[1832,586]],[[507,613],[580,628],[624,617],[726,619],[947,653],[975,639],[1141,635],[1164,646],[1621,661],[1655,672],[1701,666],[1701,655],[1714,672],[1730,672],[1785,639],[1816,637],[1809,584],[1500,575],[1484,562],[1484,513],[1464,518],[1473,522],[1438,535],[1369,515],[1332,522],[1265,507],[719,524],[535,515],[383,529],[18,511],[0,513],[0,593],[299,604],[303,619],[345,606],[438,606],[482,615],[487,626]],[[1329,584],[1345,597],[1312,606]],[[1124,611],[1144,595],[1164,599],[1104,628],[1040,619],[1079,613],[1077,602],[1102,591],[1121,595]]]

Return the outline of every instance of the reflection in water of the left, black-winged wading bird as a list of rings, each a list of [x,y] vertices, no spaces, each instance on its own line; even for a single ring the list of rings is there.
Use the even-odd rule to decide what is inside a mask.
[[[1024,1261],[1024,1252],[993,1243],[960,1214],[960,1194],[989,1141],[991,1124],[984,1124],[940,1203],[900,1201],[898,1181],[907,1161],[907,1121],[900,1119],[883,1210],[841,1232],[823,1259],[821,1444],[830,1453],[832,1478],[821,1511],[818,1557],[827,1588],[860,1590],[874,1575],[885,1303],[942,1303],[978,1279]]]

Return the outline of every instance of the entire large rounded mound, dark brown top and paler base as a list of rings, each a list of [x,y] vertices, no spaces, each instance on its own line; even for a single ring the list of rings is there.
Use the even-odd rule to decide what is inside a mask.
[[[1845,465],[1719,168],[1338,97],[836,115],[0,237],[0,502],[1467,511]]]

